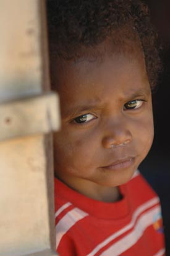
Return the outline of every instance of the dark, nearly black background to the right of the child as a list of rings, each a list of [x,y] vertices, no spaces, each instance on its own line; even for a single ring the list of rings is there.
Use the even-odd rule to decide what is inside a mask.
[[[161,200],[166,255],[170,256],[170,0],[143,2],[148,4],[151,20],[163,42],[163,72],[159,76],[158,90],[153,94],[155,139],[139,169]]]

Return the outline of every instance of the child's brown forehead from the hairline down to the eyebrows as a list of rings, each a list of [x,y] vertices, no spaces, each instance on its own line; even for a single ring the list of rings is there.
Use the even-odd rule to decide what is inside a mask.
[[[80,115],[92,109],[108,111],[114,105],[150,94],[142,60],[114,56],[97,64],[88,61],[69,66],[59,74],[62,117]],[[133,59],[133,58],[132,58]],[[117,105],[118,104],[118,105]]]

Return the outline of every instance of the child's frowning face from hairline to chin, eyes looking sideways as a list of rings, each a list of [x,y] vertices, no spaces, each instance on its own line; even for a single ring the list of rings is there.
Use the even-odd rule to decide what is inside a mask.
[[[114,187],[129,181],[153,142],[151,91],[142,54],[66,61],[57,69],[62,127],[54,134],[57,176]]]

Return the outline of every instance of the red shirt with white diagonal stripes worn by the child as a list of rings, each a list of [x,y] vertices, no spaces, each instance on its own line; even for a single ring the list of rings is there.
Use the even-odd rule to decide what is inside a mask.
[[[105,203],[55,179],[56,245],[60,256],[163,256],[159,198],[137,171]]]

